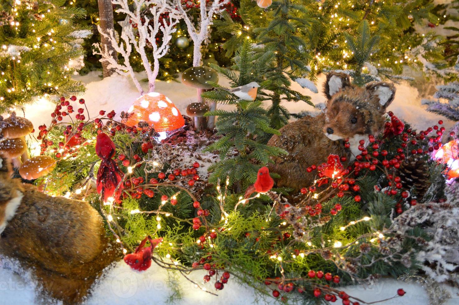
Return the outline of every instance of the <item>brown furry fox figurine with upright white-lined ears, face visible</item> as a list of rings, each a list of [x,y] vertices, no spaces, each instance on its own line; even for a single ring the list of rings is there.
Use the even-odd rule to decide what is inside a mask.
[[[349,76],[331,72],[324,86],[325,111],[318,116],[305,116],[280,128],[280,135],[274,135],[270,146],[280,147],[288,152],[286,156],[274,157],[269,171],[280,174],[279,187],[295,190],[312,184],[313,173],[306,169],[327,161],[330,154],[355,159],[360,154],[360,140],[368,144],[368,135],[381,133],[387,106],[395,95],[391,83],[369,83],[364,88],[351,85]],[[346,149],[342,140],[349,139]]]

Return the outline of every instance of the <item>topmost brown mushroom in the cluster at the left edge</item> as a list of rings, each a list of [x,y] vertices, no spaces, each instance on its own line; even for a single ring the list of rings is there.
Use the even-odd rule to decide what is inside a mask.
[[[14,112],[10,117],[6,118],[1,123],[2,128],[0,131],[0,141],[13,140],[8,143],[4,143],[1,146],[9,146],[11,148],[11,145],[16,145],[18,150],[20,147],[22,147],[22,144],[25,147],[25,150],[22,151],[21,155],[18,155],[14,158],[11,156],[9,157],[13,159],[13,166],[19,167],[21,166],[22,162],[27,161],[29,158],[27,145],[25,144],[25,136],[29,133],[32,133],[34,130],[34,125],[25,117],[16,116],[16,113]]]

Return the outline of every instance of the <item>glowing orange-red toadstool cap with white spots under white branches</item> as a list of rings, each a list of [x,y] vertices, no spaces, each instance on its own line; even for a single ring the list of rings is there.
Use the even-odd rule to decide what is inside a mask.
[[[171,131],[185,125],[185,120],[174,103],[164,94],[150,92],[135,100],[129,107],[129,118],[125,124],[133,127],[147,122],[156,132]]]

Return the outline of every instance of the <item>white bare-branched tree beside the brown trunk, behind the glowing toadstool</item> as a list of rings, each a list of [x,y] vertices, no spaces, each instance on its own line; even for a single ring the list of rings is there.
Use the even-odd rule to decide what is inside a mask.
[[[94,44],[94,54],[101,55],[101,62],[107,62],[107,67],[115,69],[121,75],[130,75],[135,87],[140,94],[144,94],[144,90],[140,86],[139,80],[134,75],[134,70],[129,62],[129,56],[135,50],[139,53],[142,64],[148,78],[148,92],[155,91],[155,81],[159,72],[159,58],[166,55],[169,50],[169,42],[172,39],[172,33],[176,31],[175,25],[180,20],[180,14],[166,0],[134,0],[134,9],[131,11],[128,6],[128,0],[112,0],[112,3],[120,6],[117,10],[119,13],[126,14],[133,24],[137,24],[137,28],[124,27],[121,33],[120,42],[116,41],[114,30],[109,29],[104,32],[99,27],[99,32],[102,37],[108,39],[113,47],[113,50],[107,48],[106,45]],[[149,19],[142,8],[147,7],[152,19]],[[168,13],[165,18],[162,15]],[[162,17],[162,23],[160,22]],[[152,21],[152,25],[150,24]],[[136,32],[139,37],[136,39]],[[157,42],[158,33],[162,33],[162,39]],[[148,61],[146,56],[147,41],[150,42],[153,55],[153,65]],[[133,49],[134,46],[134,49]],[[112,52],[116,51],[123,56],[124,63],[120,64],[114,60]],[[148,50],[151,52],[151,50]]]

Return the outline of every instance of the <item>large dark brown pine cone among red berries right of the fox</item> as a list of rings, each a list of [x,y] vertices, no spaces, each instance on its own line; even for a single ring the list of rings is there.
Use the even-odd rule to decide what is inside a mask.
[[[429,167],[425,160],[409,156],[400,164],[398,174],[405,189],[416,189],[417,199],[420,200],[429,189]]]

